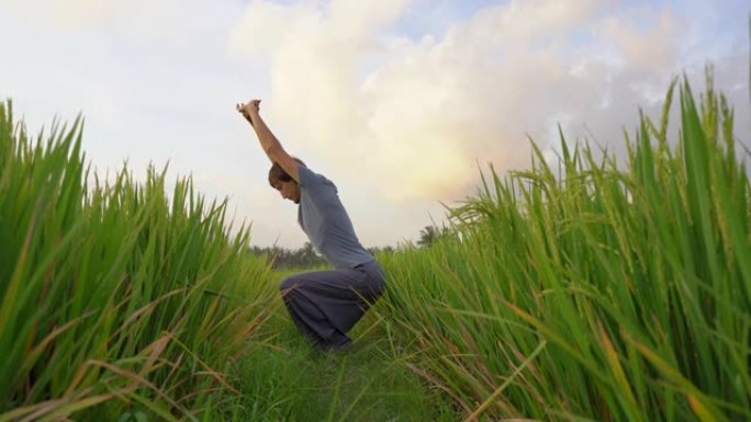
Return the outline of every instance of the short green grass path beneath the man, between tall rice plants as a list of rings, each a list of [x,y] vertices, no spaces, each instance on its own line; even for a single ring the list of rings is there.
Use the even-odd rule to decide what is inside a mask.
[[[456,421],[438,391],[410,369],[373,309],[346,352],[321,353],[298,333],[281,300],[266,330],[235,367],[240,395],[224,418],[242,421]]]

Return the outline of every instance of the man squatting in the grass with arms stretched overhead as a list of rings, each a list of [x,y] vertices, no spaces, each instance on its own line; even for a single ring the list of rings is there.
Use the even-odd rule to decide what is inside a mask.
[[[260,100],[237,104],[271,160],[269,183],[299,204],[298,223],[313,247],[334,266],[293,275],[281,283],[284,305],[300,331],[318,349],[336,350],[385,288],[383,271],[362,248],[336,186],[287,153],[259,115]]]

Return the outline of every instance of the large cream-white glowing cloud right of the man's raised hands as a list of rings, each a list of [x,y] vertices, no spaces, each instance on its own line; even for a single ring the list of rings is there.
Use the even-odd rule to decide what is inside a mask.
[[[444,34],[383,36],[407,5],[255,1],[229,41],[233,55],[270,60],[267,113],[288,149],[396,202],[461,196],[478,161],[525,167],[525,134],[545,141],[556,116],[582,126],[616,101],[635,111],[651,85],[623,78],[674,61],[668,10],[643,28],[646,7],[623,19],[605,13],[613,2],[511,1]]]

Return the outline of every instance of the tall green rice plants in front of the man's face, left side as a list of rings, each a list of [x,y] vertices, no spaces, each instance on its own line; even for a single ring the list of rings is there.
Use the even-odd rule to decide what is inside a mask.
[[[81,133],[0,104],[0,421],[194,419],[262,341],[270,266],[189,178],[101,181]]]

